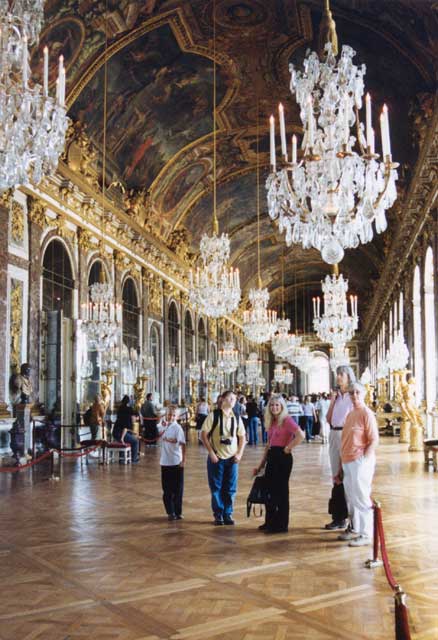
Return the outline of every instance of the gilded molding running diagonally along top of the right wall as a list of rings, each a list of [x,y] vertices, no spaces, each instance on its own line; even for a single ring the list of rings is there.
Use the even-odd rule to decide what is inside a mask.
[[[363,335],[371,340],[380,326],[382,316],[401,274],[409,262],[417,239],[427,223],[438,193],[438,104],[429,126],[429,133],[420,150],[408,194],[400,211],[402,218],[386,257],[383,272],[363,319]]]

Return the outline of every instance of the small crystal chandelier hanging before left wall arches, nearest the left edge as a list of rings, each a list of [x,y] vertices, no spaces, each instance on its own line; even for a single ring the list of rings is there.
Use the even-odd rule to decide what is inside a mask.
[[[114,302],[112,286],[95,282],[90,286],[90,302],[82,306],[89,347],[103,353],[116,346],[122,332],[122,307]]]

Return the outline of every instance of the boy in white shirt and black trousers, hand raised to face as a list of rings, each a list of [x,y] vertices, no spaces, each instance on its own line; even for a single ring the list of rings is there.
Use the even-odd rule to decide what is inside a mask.
[[[167,409],[167,420],[158,425],[161,437],[161,485],[168,520],[182,520],[186,439],[176,421],[176,407]]]

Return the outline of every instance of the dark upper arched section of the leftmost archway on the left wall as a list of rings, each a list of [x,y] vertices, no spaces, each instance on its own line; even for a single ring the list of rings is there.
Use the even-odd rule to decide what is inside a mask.
[[[73,316],[73,272],[70,257],[60,240],[52,240],[43,260],[43,311],[62,311]]]

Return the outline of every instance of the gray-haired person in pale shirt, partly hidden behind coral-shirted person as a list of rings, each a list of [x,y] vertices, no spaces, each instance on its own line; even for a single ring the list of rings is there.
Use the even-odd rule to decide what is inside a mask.
[[[350,386],[356,382],[354,371],[348,365],[341,365],[336,368],[336,391],[332,394],[330,407],[327,412],[327,422],[330,424],[329,434],[329,457],[332,470],[333,482],[338,477],[341,467],[341,439],[342,429],[345,419],[353,409],[350,394],[348,392]],[[332,522],[325,525],[329,531],[345,529],[347,523],[345,520],[333,519]]]

